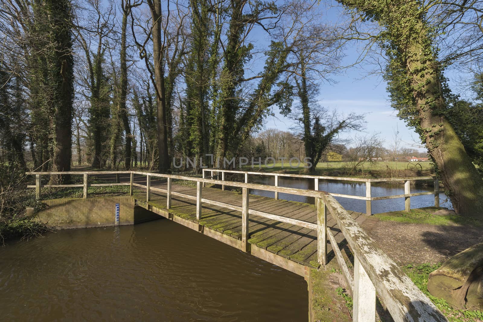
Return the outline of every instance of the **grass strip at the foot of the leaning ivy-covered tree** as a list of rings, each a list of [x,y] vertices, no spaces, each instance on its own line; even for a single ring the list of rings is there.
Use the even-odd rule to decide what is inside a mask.
[[[450,226],[450,225],[471,225],[483,226],[483,221],[460,215],[434,215],[433,213],[439,209],[438,207],[425,207],[418,209],[411,209],[411,211],[391,211],[388,213],[375,214],[379,220],[382,221],[396,221],[408,224],[427,224],[435,226]]]

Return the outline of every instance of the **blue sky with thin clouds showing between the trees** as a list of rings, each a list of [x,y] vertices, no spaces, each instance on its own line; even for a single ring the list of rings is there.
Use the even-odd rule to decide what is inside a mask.
[[[347,17],[341,16],[340,7],[329,7],[321,5],[317,8],[322,16],[331,20],[334,24],[340,23]],[[328,23],[330,24],[330,22]],[[259,40],[259,39],[258,39]],[[354,64],[358,58],[356,43],[346,45],[341,62],[342,66]],[[369,68],[372,68],[369,66]],[[381,138],[386,142],[385,147],[389,148],[393,141],[394,130],[397,129],[402,139],[402,145],[426,151],[420,144],[419,135],[396,116],[397,111],[390,106],[386,93],[386,82],[382,80],[381,74],[369,74],[362,66],[345,69],[340,75],[331,76],[335,84],[321,84],[319,103],[329,109],[337,109],[340,113],[348,114],[355,112],[366,115],[367,133],[380,133]],[[266,120],[265,128],[277,128],[279,130],[290,130],[294,124],[292,120],[278,113],[278,107],[274,107],[275,117]],[[356,133],[342,134],[341,136],[354,136]],[[361,133],[364,135],[364,133]]]

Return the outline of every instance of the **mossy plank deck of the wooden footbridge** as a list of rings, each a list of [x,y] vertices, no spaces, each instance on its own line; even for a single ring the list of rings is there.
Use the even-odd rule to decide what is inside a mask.
[[[137,181],[137,180],[136,180]],[[141,183],[142,181],[140,181]],[[152,188],[167,189],[166,183],[151,183]],[[196,197],[196,188],[172,184],[172,191],[184,193]],[[145,205],[146,194],[142,192],[134,193],[134,198],[138,203]],[[203,188],[203,198],[218,202],[224,202],[241,207],[241,192],[221,190],[219,188]],[[156,209],[188,220],[205,228],[210,228],[219,233],[241,240],[241,212],[207,203],[202,204],[201,219],[196,218],[196,201],[187,198],[172,196],[171,207],[166,209],[167,194],[163,192],[153,192],[150,194],[149,207],[153,211]],[[275,200],[269,197],[258,195],[249,196],[250,209],[299,219],[311,223],[317,222],[317,210],[313,204]],[[358,212],[349,214],[356,222],[361,224],[367,216]],[[344,236],[337,226],[336,220],[327,214],[327,226],[330,227],[337,243],[344,240]],[[274,255],[282,256],[306,267],[318,268],[317,261],[317,232],[310,228],[302,228],[296,225],[283,223],[256,215],[249,216],[249,239],[251,245],[264,249]],[[327,245],[328,260],[333,257],[332,247]]]

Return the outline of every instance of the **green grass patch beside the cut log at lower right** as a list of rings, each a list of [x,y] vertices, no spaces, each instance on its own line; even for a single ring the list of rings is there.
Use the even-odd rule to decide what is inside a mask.
[[[416,286],[436,305],[436,307],[448,318],[450,322],[482,321],[483,312],[479,310],[453,309],[444,299],[435,297],[427,290],[429,273],[438,269],[441,264],[409,264],[402,269],[416,284]]]

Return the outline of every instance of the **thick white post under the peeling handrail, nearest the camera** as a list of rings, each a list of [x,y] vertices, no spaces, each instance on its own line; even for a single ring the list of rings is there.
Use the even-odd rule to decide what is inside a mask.
[[[376,289],[366,271],[354,256],[354,322],[375,321],[376,319]]]

